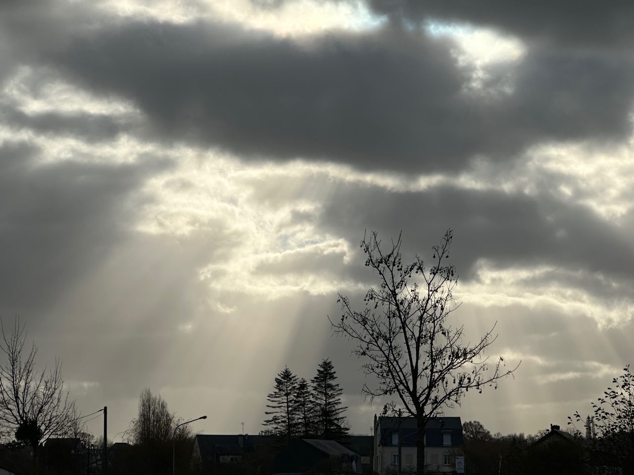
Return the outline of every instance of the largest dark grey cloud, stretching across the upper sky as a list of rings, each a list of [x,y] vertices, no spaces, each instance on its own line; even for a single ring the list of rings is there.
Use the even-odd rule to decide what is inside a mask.
[[[100,29],[51,64],[97,94],[131,99],[158,137],[245,157],[297,156],[360,168],[455,170],[474,155],[506,160],[547,140],[629,134],[630,61],[529,51],[465,92],[472,72],[451,42],[388,26],[311,40],[226,25],[134,23]]]

